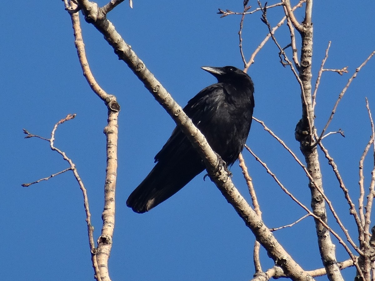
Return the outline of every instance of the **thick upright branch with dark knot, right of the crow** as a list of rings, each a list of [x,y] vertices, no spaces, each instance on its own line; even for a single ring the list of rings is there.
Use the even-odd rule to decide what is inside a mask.
[[[309,188],[311,190],[311,207],[315,215],[321,221],[327,224],[327,213],[323,195],[323,182],[320,170],[320,163],[318,158],[318,151],[316,146],[312,146],[314,126],[314,108],[312,106],[312,44],[313,44],[313,27],[312,27],[312,0],[306,1],[305,20],[300,24],[294,16],[290,0],[283,0],[285,5],[285,12],[287,17],[294,27],[299,31],[302,37],[302,48],[300,58],[299,77],[302,81],[302,118],[296,127],[296,139],[300,142],[300,149],[305,156],[307,169],[314,179],[309,181]],[[344,280],[337,265],[335,255],[335,245],[333,245],[330,233],[327,228],[321,223],[320,220],[315,220],[315,227],[318,237],[318,245],[323,261],[326,268],[329,280]]]

